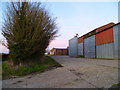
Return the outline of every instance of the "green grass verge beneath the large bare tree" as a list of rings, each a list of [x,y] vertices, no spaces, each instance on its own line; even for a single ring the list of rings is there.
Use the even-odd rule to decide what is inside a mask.
[[[45,56],[44,62],[34,63],[30,66],[21,66],[18,69],[9,66],[8,61],[2,63],[2,79],[8,79],[12,77],[25,76],[28,74],[43,72],[45,70],[52,69],[53,67],[60,67],[61,65],[55,62],[51,57]]]

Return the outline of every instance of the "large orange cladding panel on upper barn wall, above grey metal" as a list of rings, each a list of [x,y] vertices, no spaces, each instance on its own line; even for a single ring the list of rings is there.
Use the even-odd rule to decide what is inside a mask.
[[[112,42],[114,42],[113,28],[107,29],[103,32],[96,34],[96,45],[112,43]]]

